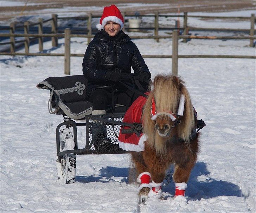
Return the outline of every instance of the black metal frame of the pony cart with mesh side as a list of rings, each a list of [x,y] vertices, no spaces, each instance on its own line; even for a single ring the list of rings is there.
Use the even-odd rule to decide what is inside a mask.
[[[93,140],[90,141],[90,120],[95,120],[95,121],[100,121],[100,122],[105,122],[106,125],[123,125],[126,123],[123,123],[121,121],[114,121],[112,119],[114,118],[123,118],[124,113],[116,113],[116,114],[105,114],[105,115],[86,115],[85,116],[85,122],[75,122],[73,120],[68,120],[60,123],[57,128],[56,128],[56,146],[57,146],[57,156],[69,154],[69,153],[74,153],[78,155],[89,155],[89,154],[123,154],[123,153],[128,153],[128,151],[124,151],[122,149],[118,150],[113,150],[113,151],[105,151],[104,153],[98,152],[98,151],[93,151],[90,150],[92,144],[94,143]],[[111,119],[111,120],[110,120]],[[60,138],[59,138],[59,130],[60,127],[66,126],[66,127],[73,127],[73,137],[75,141],[75,149],[72,150],[65,150],[65,151],[60,151]],[[86,127],[86,133],[85,133],[85,147],[82,149],[78,149],[78,144],[77,144],[77,126],[85,126]]]

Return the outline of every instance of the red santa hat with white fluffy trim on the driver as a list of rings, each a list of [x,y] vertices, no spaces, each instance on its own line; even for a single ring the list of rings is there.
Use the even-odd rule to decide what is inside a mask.
[[[117,24],[121,26],[120,30],[123,28],[123,16],[120,12],[120,10],[115,6],[111,5],[109,7],[104,7],[103,13],[101,16],[100,24],[97,24],[96,27],[98,30],[103,29],[105,24],[107,24],[108,21],[114,21]]]

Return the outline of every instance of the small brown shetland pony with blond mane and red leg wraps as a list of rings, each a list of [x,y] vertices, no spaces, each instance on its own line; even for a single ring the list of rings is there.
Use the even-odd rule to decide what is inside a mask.
[[[173,75],[156,76],[142,115],[143,133],[147,134],[145,148],[131,153],[142,201],[162,197],[162,183],[172,163],[175,196],[185,196],[199,148],[196,121],[183,80]]]

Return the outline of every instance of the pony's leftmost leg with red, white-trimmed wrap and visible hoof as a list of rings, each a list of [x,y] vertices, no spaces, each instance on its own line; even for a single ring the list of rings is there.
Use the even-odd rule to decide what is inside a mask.
[[[148,168],[143,160],[141,153],[132,152],[132,161],[135,164],[137,173],[139,174],[137,181],[141,183],[139,187],[139,195],[143,198],[147,198],[150,191],[149,182],[151,180],[151,175],[148,173]]]

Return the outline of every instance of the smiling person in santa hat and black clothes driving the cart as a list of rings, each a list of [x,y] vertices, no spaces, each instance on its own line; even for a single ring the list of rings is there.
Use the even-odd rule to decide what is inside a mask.
[[[104,7],[97,24],[100,32],[96,33],[84,54],[83,74],[88,79],[87,98],[93,103],[93,115],[106,114],[106,106],[113,102],[129,107],[139,96],[119,82],[129,84],[129,80],[123,78],[130,75],[131,67],[144,88],[142,92],[151,82],[151,73],[137,46],[122,31],[123,26],[123,16],[118,8],[115,5]],[[105,132],[105,127],[102,131]]]

